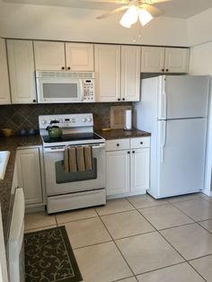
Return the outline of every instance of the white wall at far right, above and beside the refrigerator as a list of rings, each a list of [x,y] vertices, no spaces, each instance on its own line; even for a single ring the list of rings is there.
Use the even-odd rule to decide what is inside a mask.
[[[212,41],[190,49],[190,74],[212,76]],[[211,83],[212,83],[212,79],[211,79]],[[209,103],[208,146],[207,146],[207,163],[206,163],[206,179],[205,179],[205,189],[208,195],[211,189],[211,172],[212,172],[212,99],[210,99],[210,103]]]

